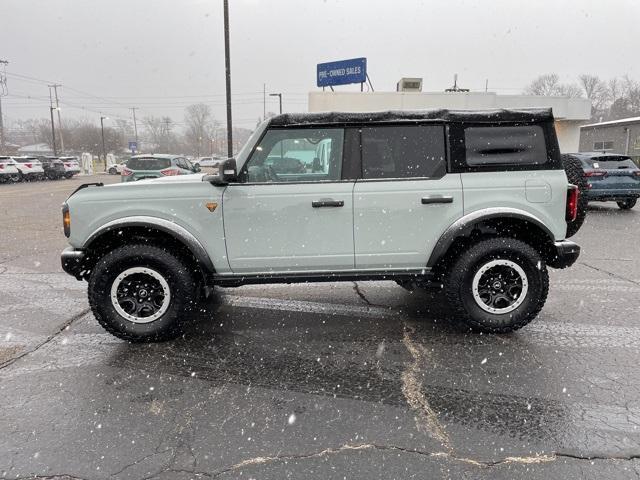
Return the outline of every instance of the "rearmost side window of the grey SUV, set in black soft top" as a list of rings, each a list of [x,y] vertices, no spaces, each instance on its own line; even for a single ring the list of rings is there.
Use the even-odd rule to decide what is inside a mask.
[[[547,146],[540,125],[467,127],[467,165],[539,165],[547,163]]]

